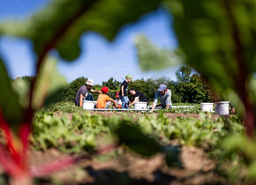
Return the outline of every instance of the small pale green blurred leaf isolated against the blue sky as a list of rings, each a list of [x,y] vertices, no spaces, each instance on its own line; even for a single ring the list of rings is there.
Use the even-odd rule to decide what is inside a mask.
[[[135,44],[142,70],[162,70],[184,63],[180,51],[156,48],[144,35],[139,35]]]

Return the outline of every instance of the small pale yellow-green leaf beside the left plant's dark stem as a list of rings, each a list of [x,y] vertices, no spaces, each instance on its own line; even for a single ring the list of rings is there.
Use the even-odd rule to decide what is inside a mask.
[[[34,97],[33,97],[33,107],[35,109],[40,108],[44,100],[49,96],[47,103],[49,104],[54,100],[59,89],[64,88],[67,85],[64,77],[62,77],[56,71],[56,59],[49,57],[43,64],[42,69],[36,81]]]

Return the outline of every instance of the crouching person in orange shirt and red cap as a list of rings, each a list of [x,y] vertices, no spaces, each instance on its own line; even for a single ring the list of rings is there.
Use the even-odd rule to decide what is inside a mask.
[[[117,107],[117,102],[111,99],[106,93],[109,92],[109,88],[106,86],[102,87],[102,94],[99,95],[97,100],[97,108],[108,108],[111,102],[114,103],[114,106]]]

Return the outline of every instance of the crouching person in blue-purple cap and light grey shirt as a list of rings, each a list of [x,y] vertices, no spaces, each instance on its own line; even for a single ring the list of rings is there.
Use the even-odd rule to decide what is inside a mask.
[[[159,98],[161,100],[161,104],[157,105],[157,101]],[[166,109],[169,109],[169,107],[171,107],[171,91],[167,89],[166,85],[159,85],[157,92],[155,93],[154,103],[150,112],[153,112],[155,107],[162,107]]]

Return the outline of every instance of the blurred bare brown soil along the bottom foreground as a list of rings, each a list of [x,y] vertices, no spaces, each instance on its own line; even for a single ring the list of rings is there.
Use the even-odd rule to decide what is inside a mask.
[[[119,155],[115,153],[119,152]],[[55,149],[32,152],[31,165],[51,163],[67,154]],[[171,168],[165,164],[162,154],[142,158],[137,154],[118,148],[114,152],[92,159],[81,159],[76,165],[37,179],[38,184],[226,184],[215,174],[215,162],[195,147],[181,148],[182,168]]]

